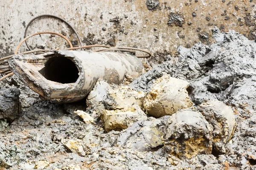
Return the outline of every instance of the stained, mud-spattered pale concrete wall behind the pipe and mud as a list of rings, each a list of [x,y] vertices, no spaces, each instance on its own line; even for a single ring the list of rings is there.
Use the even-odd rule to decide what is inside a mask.
[[[0,0],[0,57],[13,54],[23,40],[27,23],[40,14],[67,20],[83,45],[131,46],[152,51],[157,62],[175,56],[179,45],[211,43],[213,26],[234,29],[254,38],[255,0]],[[55,31],[78,41],[70,28],[57,19],[41,18],[28,34]],[[49,34],[29,39],[32,48],[64,48],[67,43]],[[21,51],[26,51],[22,45]]]

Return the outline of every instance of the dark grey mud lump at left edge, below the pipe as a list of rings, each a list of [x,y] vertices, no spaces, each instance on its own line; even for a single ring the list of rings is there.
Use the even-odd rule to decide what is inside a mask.
[[[13,121],[19,115],[20,91],[17,88],[0,89],[0,119],[6,119],[8,122]]]

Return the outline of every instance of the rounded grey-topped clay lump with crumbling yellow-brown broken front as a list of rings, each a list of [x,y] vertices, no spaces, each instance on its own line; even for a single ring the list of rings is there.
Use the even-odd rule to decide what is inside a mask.
[[[204,116],[196,111],[182,110],[167,123],[164,137],[166,151],[180,159],[212,153],[212,129]]]

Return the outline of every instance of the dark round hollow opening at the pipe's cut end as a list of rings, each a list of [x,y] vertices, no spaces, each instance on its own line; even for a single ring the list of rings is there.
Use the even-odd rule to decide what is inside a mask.
[[[62,84],[74,83],[79,78],[75,63],[67,57],[52,57],[39,71],[46,79]]]

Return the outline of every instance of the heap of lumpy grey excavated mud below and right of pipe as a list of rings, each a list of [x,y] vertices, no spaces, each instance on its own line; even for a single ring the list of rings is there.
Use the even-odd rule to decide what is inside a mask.
[[[0,167],[256,168],[256,43],[235,31],[221,33],[213,28],[212,32],[214,44],[180,46],[178,57],[158,65],[129,86],[117,87],[99,80],[87,101],[55,104],[39,99],[16,77],[0,82],[3,93],[9,88],[19,89],[16,99],[21,107],[14,122],[7,119],[9,127],[1,119]],[[180,93],[188,95],[193,105],[175,109],[171,116],[146,117],[145,95],[166,74],[186,81]],[[159,91],[154,94],[172,94],[162,91],[165,86],[155,89]],[[179,99],[177,95],[172,99]],[[164,110],[166,106],[160,107]],[[143,119],[136,114],[143,115]],[[106,132],[106,121],[108,127],[118,128]]]

